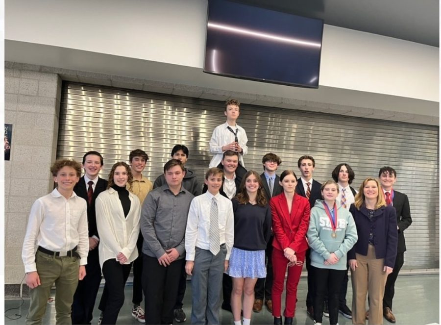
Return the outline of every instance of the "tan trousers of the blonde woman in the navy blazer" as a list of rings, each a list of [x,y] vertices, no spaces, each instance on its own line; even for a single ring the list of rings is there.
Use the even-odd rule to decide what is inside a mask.
[[[369,293],[368,324],[383,324],[383,295],[387,275],[384,258],[375,258],[375,247],[368,246],[368,255],[355,254],[358,267],[351,270],[352,324],[366,324],[366,294]]]

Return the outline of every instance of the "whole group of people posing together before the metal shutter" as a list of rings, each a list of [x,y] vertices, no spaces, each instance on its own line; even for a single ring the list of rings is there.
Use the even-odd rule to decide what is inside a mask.
[[[382,324],[383,316],[395,323],[394,283],[406,250],[403,231],[412,223],[407,196],[392,188],[395,170],[381,168],[357,192],[346,163],[320,184],[312,156],[298,159],[297,178],[292,170],[276,175],[281,159],[267,153],[259,175],[245,169],[239,102],[228,100],[224,114],[210,140],[203,188],[185,167],[184,145],[173,147],[154,184],[142,174],[148,156],[140,149],[130,152],[129,164],[115,163],[107,180],[98,176],[98,151],[86,152],[81,165],[53,164],[57,186],[33,204],[23,246],[26,324],[42,324],[54,283],[56,323],[91,324],[102,277],[98,324],[116,324],[132,264],[132,316],[141,323],[185,322],[191,275],[192,324],[220,324],[221,308],[234,324],[250,324],[264,299],[274,324],[282,324],[288,273],[283,316],[293,324],[303,264],[307,312],[316,324],[323,315],[337,324],[339,312],[353,324]]]

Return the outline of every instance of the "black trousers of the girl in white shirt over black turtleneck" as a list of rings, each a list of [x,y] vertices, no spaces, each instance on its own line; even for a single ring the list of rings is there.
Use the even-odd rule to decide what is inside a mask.
[[[125,282],[130,274],[130,264],[120,264],[115,259],[108,259],[102,265],[102,275],[106,283],[102,292],[99,309],[102,311],[102,325],[116,324],[118,314],[124,304]]]

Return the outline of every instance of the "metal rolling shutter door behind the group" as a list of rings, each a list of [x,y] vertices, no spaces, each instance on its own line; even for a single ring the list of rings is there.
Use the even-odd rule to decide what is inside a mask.
[[[225,122],[223,102],[64,83],[57,157],[81,161],[87,150],[104,156],[101,177],[115,161],[128,161],[130,150],[146,150],[144,175],[154,181],[162,173],[175,144],[189,150],[188,167],[203,184],[211,159],[213,129]],[[243,104],[238,124],[248,136],[245,167],[261,173],[262,156],[274,152],[282,159],[279,174],[293,169],[297,159],[316,160],[314,178],[331,178],[334,167],[347,162],[358,189],[367,176],[389,165],[398,173],[397,191],[408,195],[413,224],[405,232],[403,269],[439,266],[439,128],[316,112]]]

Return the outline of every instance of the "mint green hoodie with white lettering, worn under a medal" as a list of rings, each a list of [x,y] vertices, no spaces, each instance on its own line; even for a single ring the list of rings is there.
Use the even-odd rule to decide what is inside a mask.
[[[351,213],[337,202],[337,237],[332,238],[331,221],[323,204],[326,204],[323,200],[316,200],[311,209],[306,233],[311,248],[311,265],[320,269],[346,270],[346,254],[358,240],[354,219]],[[339,261],[333,265],[324,265],[331,253],[335,253]]]

